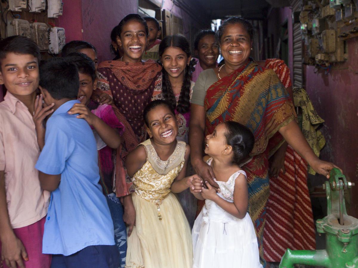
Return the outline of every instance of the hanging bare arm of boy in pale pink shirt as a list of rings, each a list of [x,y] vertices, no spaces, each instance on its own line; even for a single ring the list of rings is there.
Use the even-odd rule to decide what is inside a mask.
[[[8,267],[17,267],[18,265],[20,268],[25,268],[23,259],[28,260],[28,256],[23,243],[11,228],[6,202],[4,170],[0,171],[0,240],[2,245],[0,253],[4,263]]]

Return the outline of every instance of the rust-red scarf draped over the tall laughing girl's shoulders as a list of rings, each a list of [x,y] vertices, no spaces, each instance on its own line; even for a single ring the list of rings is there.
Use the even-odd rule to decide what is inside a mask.
[[[106,69],[109,69],[111,72],[110,76],[114,77],[106,77],[106,75],[103,75],[103,72]],[[111,78],[114,79],[118,85],[113,85],[113,83],[110,82]],[[133,95],[139,95],[147,92],[147,94],[151,96],[152,100],[158,99],[161,98],[161,66],[154,61],[140,63],[127,63],[118,60],[104,61],[98,66],[96,85],[97,88],[92,94],[93,100],[97,99],[102,93],[110,95],[113,99],[112,90],[114,87],[116,87],[118,94],[121,94],[119,92],[122,92],[121,89],[123,89],[123,91],[127,90]],[[127,98],[128,96],[123,93],[122,99],[125,103],[127,103]],[[141,103],[142,100],[140,98],[135,101],[133,105],[140,107]],[[126,168],[124,167],[124,159],[129,152],[134,150],[139,143],[145,140],[146,130],[143,123],[141,129],[137,130],[136,134],[130,124],[130,121],[127,120],[128,115],[121,113],[115,103],[112,104],[112,108],[118,120],[125,126],[125,130],[122,135],[122,145],[116,152],[115,172],[113,174],[116,195],[117,197],[122,197],[134,192],[131,178],[127,174]],[[144,109],[144,107],[140,107],[138,109]]]

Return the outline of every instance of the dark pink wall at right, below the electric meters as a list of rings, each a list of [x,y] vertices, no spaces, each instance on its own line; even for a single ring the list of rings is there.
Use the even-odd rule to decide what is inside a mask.
[[[343,169],[347,180],[358,188],[358,38],[349,39],[349,59],[335,64],[325,74],[306,66],[306,90],[318,114],[325,120],[322,132],[326,146],[321,158]],[[349,214],[358,218],[358,195],[351,195]]]

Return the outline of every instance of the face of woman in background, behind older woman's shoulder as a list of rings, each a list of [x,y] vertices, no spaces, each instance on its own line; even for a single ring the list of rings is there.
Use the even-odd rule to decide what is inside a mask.
[[[215,42],[215,36],[213,34],[205,35],[199,40],[197,54],[200,66],[202,66],[204,70],[216,67],[216,61],[219,57],[219,46]]]

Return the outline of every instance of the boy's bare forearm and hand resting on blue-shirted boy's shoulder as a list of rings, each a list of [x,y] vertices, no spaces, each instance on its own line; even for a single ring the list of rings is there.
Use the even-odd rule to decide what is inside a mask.
[[[116,149],[120,147],[122,143],[121,135],[105,122],[100,119],[98,116],[93,114],[84,104],[75,103],[73,107],[68,111],[69,114],[79,114],[77,118],[83,118],[87,121],[89,125],[92,125],[93,128],[100,135],[103,142],[105,142],[109,147]]]

